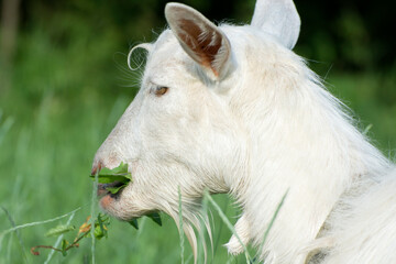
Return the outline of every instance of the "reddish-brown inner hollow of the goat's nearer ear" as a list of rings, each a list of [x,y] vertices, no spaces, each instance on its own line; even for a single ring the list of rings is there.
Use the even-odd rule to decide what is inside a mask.
[[[178,32],[178,36],[194,52],[190,55],[202,66],[209,67],[216,76],[219,76],[213,63],[221,47],[221,34],[210,28],[204,32],[191,20],[182,19],[179,22],[182,31]]]

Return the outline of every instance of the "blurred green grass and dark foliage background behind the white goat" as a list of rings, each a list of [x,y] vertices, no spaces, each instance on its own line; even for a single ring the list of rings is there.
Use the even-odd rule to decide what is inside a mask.
[[[253,0],[184,1],[209,19],[250,22]],[[2,0],[0,21],[0,233],[12,224],[41,221],[82,207],[90,213],[88,178],[96,150],[139,88],[127,67],[129,50],[152,42],[165,29],[161,0]],[[306,57],[329,89],[351,107],[387,156],[396,148],[395,1],[296,0],[302,25],[295,51]],[[216,200],[235,221],[226,196]],[[6,213],[4,209],[8,211]],[[11,221],[11,219],[12,221]],[[37,244],[66,219],[0,239],[0,263],[43,263]],[[12,223],[13,222],[13,223]],[[97,263],[179,263],[175,223],[143,221],[141,231],[112,220],[109,239],[96,244]],[[230,232],[213,212],[215,253]],[[52,263],[90,263],[90,242]],[[186,244],[186,260],[191,255]],[[202,258],[200,258],[202,262]],[[191,260],[189,263],[193,263]],[[243,257],[230,260],[243,263]]]

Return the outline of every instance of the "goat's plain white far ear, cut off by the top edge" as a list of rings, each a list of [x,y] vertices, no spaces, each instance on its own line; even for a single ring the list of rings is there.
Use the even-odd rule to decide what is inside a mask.
[[[301,21],[293,0],[257,0],[251,24],[274,35],[292,50],[296,45]]]

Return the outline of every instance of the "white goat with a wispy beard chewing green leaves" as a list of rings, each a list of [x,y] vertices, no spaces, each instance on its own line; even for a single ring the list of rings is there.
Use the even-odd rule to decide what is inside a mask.
[[[179,3],[165,15],[170,30],[138,46],[148,52],[141,89],[94,161],[94,172],[128,163],[133,183],[101,207],[178,223],[180,188],[196,253],[207,188],[237,199],[237,233],[265,263],[396,263],[394,165],[290,51],[293,1],[258,0],[244,26],[217,26]],[[234,237],[227,246],[243,252]]]

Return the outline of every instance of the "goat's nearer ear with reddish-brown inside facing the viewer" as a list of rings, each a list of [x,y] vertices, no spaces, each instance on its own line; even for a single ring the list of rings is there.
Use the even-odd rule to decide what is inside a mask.
[[[231,45],[224,33],[201,13],[182,3],[167,3],[165,16],[184,51],[210,77],[221,79],[231,57]]]

